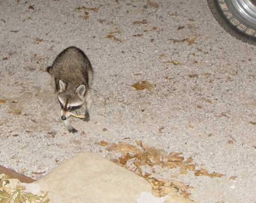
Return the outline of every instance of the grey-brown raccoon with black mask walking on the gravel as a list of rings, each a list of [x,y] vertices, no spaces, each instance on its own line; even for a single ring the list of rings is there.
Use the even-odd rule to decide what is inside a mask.
[[[74,46],[66,48],[55,58],[52,66],[47,67],[52,76],[55,92],[61,107],[61,119],[71,133],[76,133],[67,120],[71,112],[83,107],[84,121],[90,120],[91,93],[93,70],[85,53]]]

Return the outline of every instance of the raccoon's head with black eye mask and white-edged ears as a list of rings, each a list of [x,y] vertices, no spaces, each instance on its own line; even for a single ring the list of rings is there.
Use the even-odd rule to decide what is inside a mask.
[[[85,103],[85,85],[77,88],[67,87],[63,81],[59,81],[59,93],[57,95],[61,110],[62,120],[66,120],[72,111],[76,111]]]

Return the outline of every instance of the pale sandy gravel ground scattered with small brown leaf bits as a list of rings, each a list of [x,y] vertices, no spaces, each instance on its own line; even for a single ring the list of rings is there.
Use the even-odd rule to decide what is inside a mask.
[[[256,47],[230,37],[206,0],[3,0],[0,10],[0,165],[40,178],[78,152],[111,158],[100,140],[142,140],[225,174],[156,171],[193,186],[194,201],[256,202]],[[72,119],[77,134],[45,72],[68,46],[95,70],[91,120]],[[131,86],[140,81],[152,91]]]

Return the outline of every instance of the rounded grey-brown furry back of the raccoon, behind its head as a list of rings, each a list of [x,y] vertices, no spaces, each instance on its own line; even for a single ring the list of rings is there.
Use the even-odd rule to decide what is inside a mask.
[[[89,59],[74,46],[66,48],[54,60],[51,74],[65,83],[88,83],[88,72],[92,73]]]

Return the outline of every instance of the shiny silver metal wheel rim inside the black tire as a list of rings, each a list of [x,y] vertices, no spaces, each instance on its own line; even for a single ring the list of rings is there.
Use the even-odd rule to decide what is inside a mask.
[[[256,25],[256,0],[231,0],[242,16]]]

